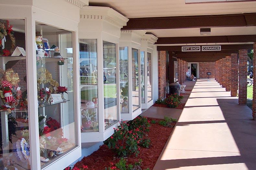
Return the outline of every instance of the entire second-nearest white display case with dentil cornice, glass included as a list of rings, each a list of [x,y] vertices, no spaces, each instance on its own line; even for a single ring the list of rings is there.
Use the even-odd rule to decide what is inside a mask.
[[[109,7],[80,10],[81,141],[110,137],[120,119],[119,37],[128,19]]]

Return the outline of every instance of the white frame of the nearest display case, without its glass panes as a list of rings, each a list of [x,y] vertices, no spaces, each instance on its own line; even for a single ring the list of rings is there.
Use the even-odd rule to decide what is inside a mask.
[[[84,1],[85,2],[85,1]],[[78,22],[79,9],[83,7],[83,3],[79,2],[79,6],[69,4],[62,0],[44,1],[45,4],[51,4],[46,9],[41,8],[40,1],[8,1],[2,5],[0,12],[3,19],[24,19],[25,34],[26,34],[26,64],[27,64],[27,87],[28,87],[28,110],[29,110],[29,141],[30,144],[30,169],[64,169],[81,156],[81,137],[80,137],[80,117],[75,114],[76,122],[76,147],[66,154],[63,154],[51,164],[41,168],[40,151],[39,151],[39,127],[38,127],[38,99],[37,99],[37,75],[36,75],[36,48],[34,45],[36,38],[36,22],[41,22],[47,25],[56,26],[73,32],[73,55],[74,55],[74,85],[78,82]],[[61,5],[62,8],[56,8]],[[69,9],[68,11],[64,9]],[[42,15],[43,14],[43,15]],[[75,87],[74,86],[74,87]],[[79,98],[78,88],[74,88],[74,96]],[[74,98],[75,98],[74,97]],[[74,102],[74,113],[78,113],[78,102]],[[36,114],[33,114],[36,113]]]

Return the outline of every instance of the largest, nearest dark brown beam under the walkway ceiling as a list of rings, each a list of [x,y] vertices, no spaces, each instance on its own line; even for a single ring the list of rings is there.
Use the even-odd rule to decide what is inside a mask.
[[[122,30],[255,26],[256,13],[129,18]]]

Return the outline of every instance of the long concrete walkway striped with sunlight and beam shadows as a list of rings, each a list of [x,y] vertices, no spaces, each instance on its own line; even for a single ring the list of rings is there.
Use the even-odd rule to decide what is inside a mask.
[[[256,122],[250,108],[238,105],[238,98],[215,80],[202,79],[153,170],[256,170],[255,158]]]

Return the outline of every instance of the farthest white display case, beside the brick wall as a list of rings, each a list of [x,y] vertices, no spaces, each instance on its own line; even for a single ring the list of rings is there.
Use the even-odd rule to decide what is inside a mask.
[[[153,83],[152,83],[152,54],[153,54],[153,45],[157,42],[157,37],[152,34],[146,34],[141,39],[141,53],[144,53],[144,60],[141,60],[141,62],[144,62],[144,68],[145,70],[142,71],[144,76],[141,76],[142,78],[142,85],[141,87],[141,107],[142,109],[147,109],[150,106],[154,104],[153,101]]]

